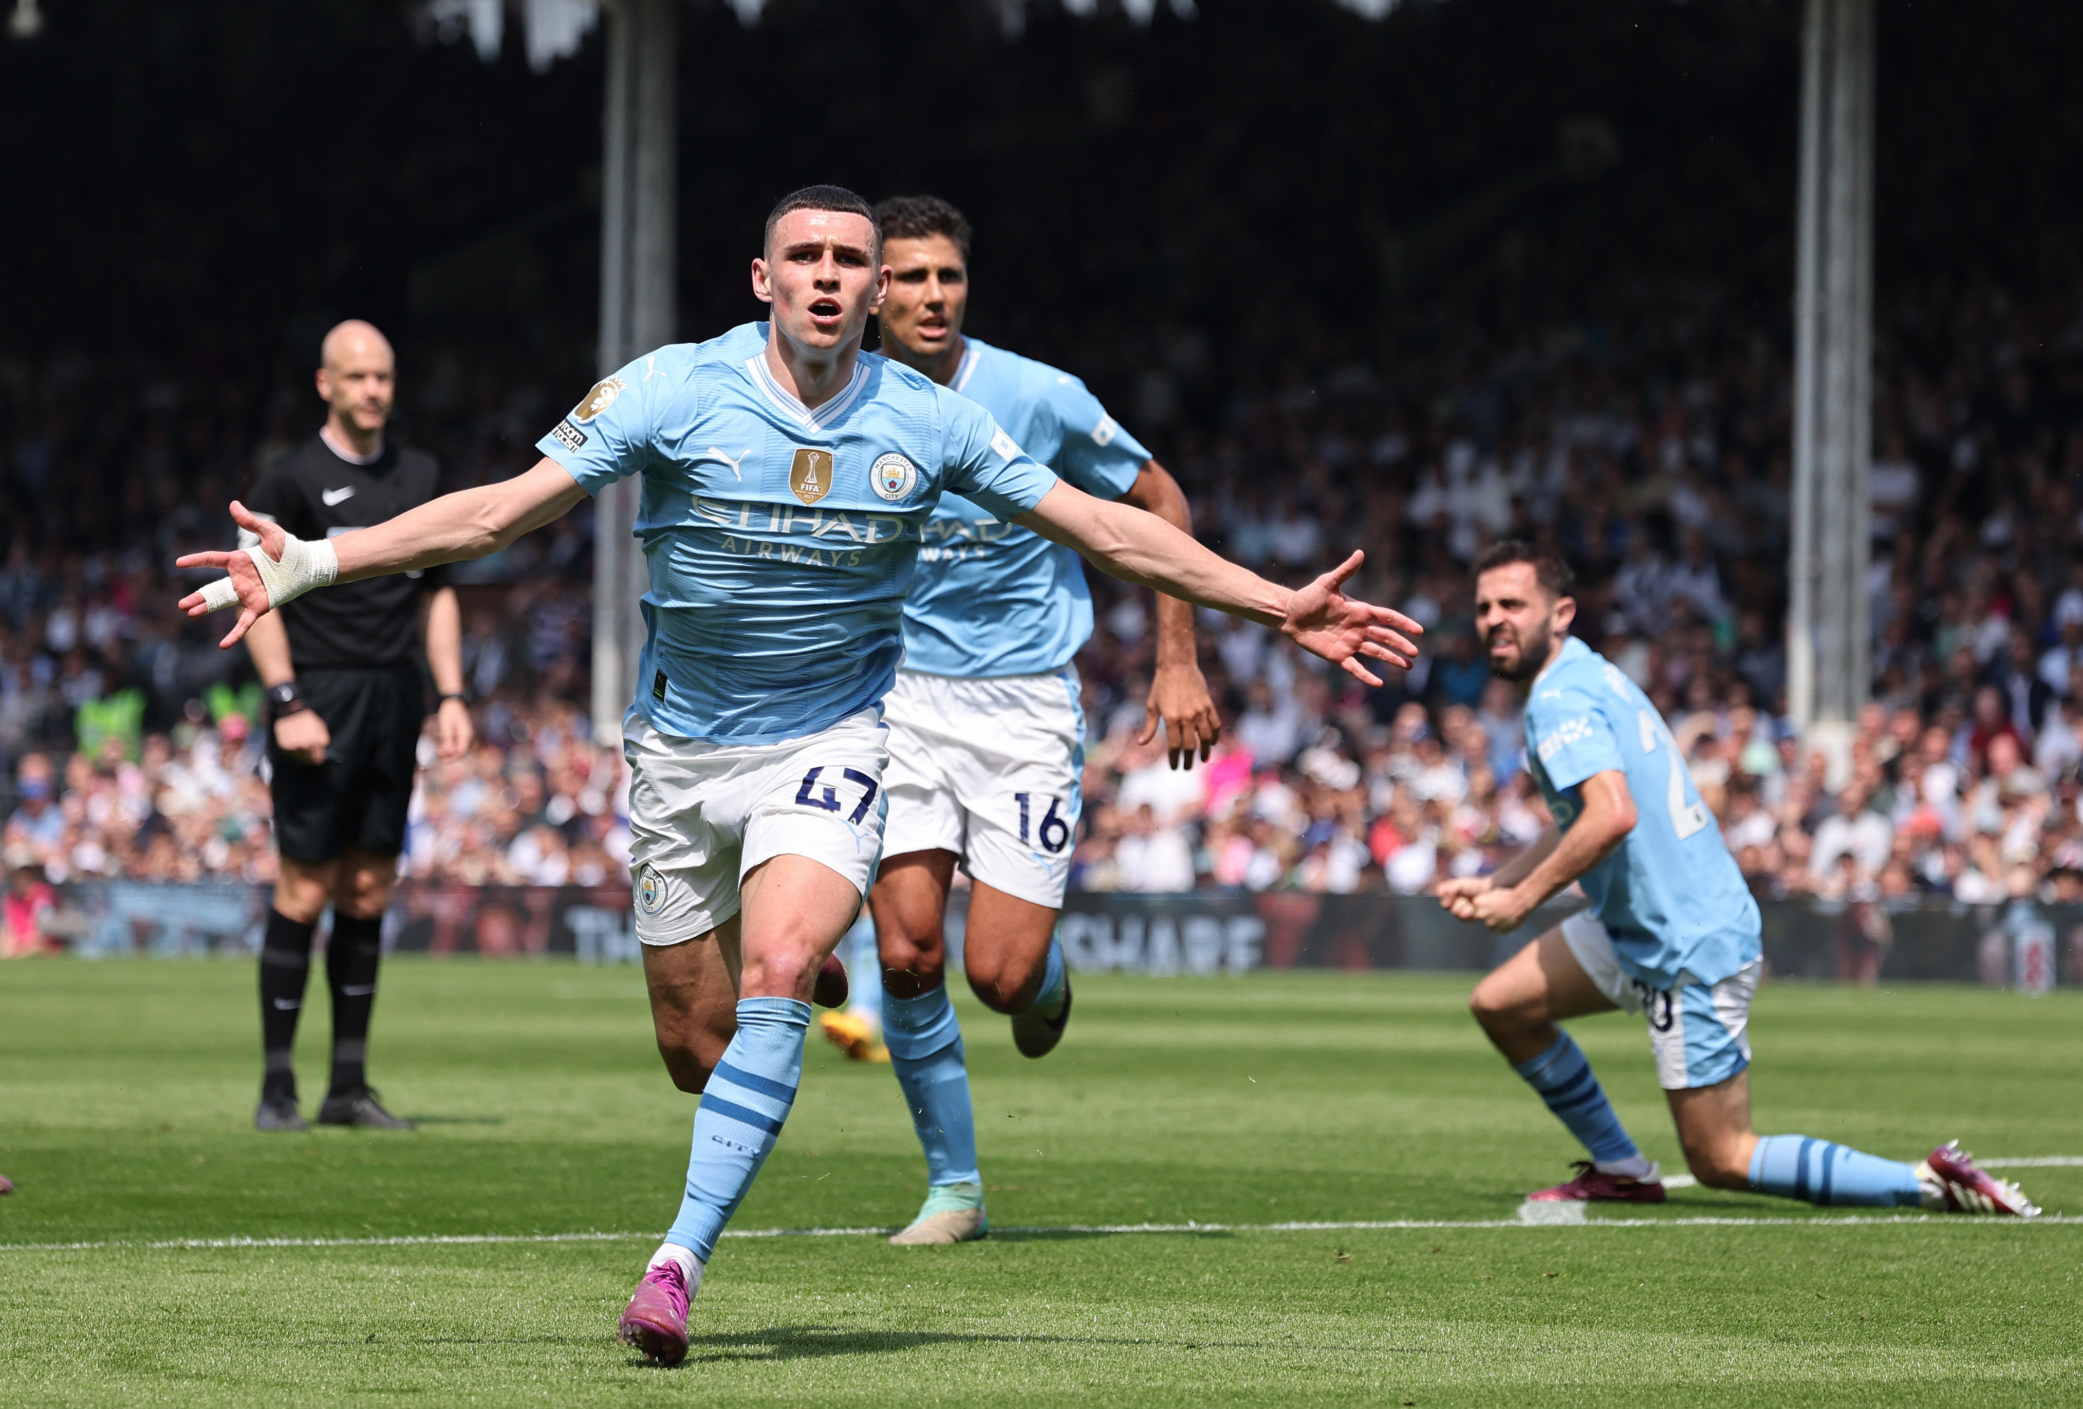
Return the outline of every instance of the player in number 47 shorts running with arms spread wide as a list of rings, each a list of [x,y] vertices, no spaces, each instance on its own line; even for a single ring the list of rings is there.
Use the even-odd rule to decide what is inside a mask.
[[[1129,582],[1277,625],[1360,679],[1375,682],[1366,659],[1416,652],[1414,623],[1339,592],[1360,554],[1298,592],[1264,582],[1154,515],[1062,484],[975,402],[860,352],[887,288],[867,202],[835,186],[796,192],[752,261],[773,321],[606,377],[527,473],[329,542],[233,504],[260,542],[179,561],[229,571],[181,600],[190,615],[237,604],[229,646],[310,588],[496,552],[642,475],[648,640],[623,721],[635,919],[660,1055],[675,1084],[704,1092],[679,1215],[621,1321],[662,1363],[687,1353],[687,1301],[781,1134],[808,996],[875,875],[881,698],[944,490]]]

